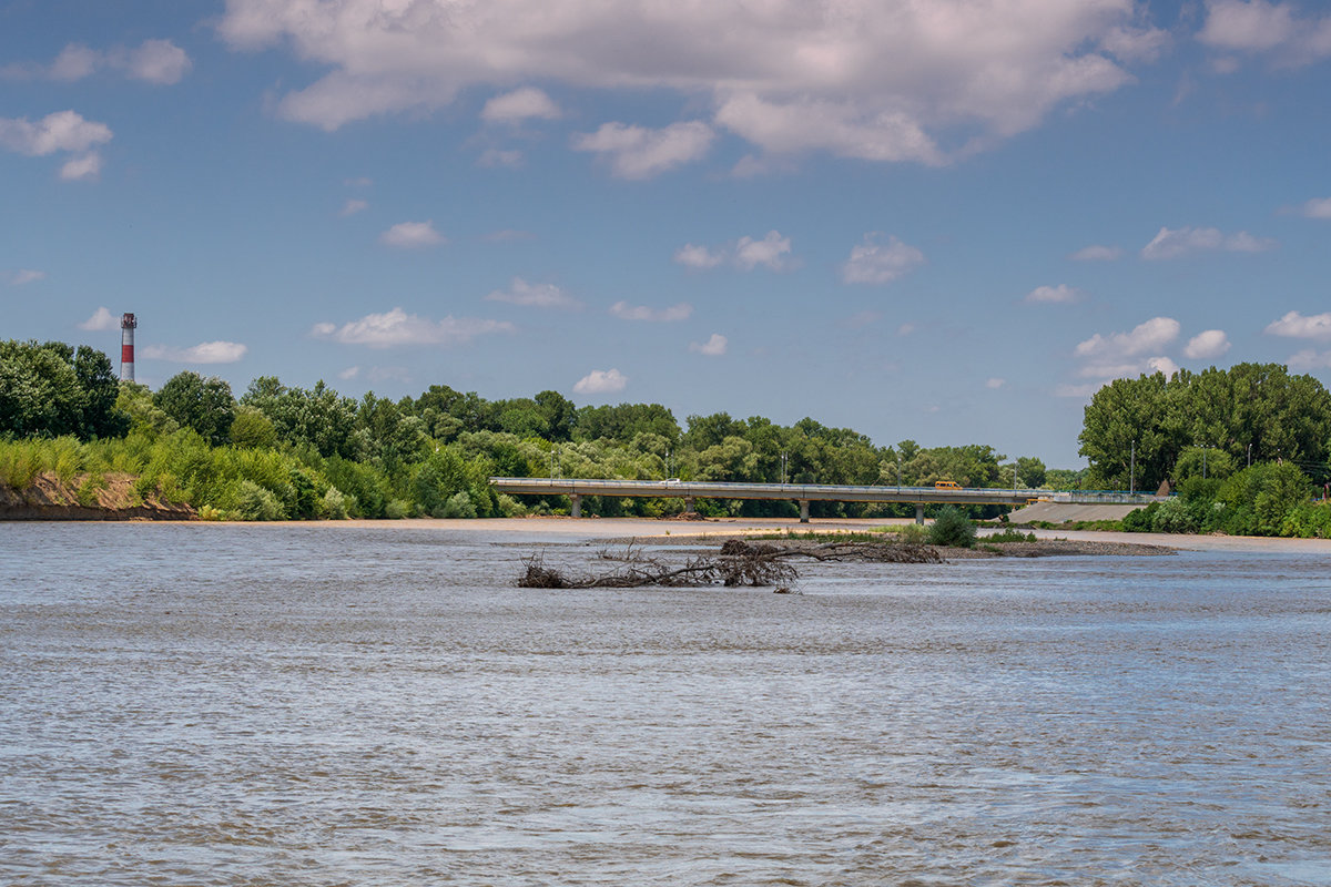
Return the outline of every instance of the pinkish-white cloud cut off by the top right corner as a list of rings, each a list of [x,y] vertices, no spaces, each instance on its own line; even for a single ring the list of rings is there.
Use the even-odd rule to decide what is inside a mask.
[[[1299,16],[1294,4],[1211,0],[1197,39],[1223,52],[1266,55],[1278,65],[1331,56],[1331,16]]]

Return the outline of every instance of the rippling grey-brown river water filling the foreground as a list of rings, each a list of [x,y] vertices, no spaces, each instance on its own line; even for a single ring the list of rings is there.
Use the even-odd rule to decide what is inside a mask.
[[[494,541],[0,524],[0,883],[1331,884],[1324,557]]]

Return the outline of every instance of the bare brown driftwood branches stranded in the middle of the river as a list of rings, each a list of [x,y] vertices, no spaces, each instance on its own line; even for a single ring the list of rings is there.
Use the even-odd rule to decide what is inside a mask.
[[[768,586],[783,585],[799,578],[799,570],[789,563],[795,557],[819,561],[877,561],[890,564],[941,564],[937,549],[909,543],[824,543],[821,545],[777,547],[767,543],[747,543],[731,539],[715,556],[700,555],[683,567],[651,557],[635,543],[623,553],[602,551],[603,561],[622,561],[624,565],[608,573],[570,576],[546,567],[544,557],[532,555],[523,563],[526,570],[518,577],[518,588],[644,588],[659,585],[684,588],[699,585]],[[789,590],[783,588],[783,590]]]

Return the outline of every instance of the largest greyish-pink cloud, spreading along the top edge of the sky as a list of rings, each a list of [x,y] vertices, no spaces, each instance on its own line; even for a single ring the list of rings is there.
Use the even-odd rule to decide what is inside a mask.
[[[218,29],[236,49],[278,47],[326,70],[277,101],[281,116],[326,129],[543,81],[672,90],[711,108],[709,124],[687,125],[727,128],[769,154],[921,162],[1113,92],[1166,43],[1130,0],[230,0]],[[709,134],[689,136],[695,158]],[[616,174],[663,169],[623,161]]]

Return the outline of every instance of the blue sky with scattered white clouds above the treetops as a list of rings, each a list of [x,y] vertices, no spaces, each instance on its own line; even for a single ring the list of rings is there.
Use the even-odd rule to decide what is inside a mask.
[[[1328,86],[1311,1],[0,0],[0,335],[1075,467],[1331,382]]]

